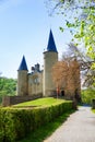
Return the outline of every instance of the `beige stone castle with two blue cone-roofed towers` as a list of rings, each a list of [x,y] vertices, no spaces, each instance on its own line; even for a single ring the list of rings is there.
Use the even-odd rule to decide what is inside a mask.
[[[57,88],[52,81],[51,70],[57,61],[58,50],[55,44],[52,32],[50,29],[47,50],[44,51],[44,70],[40,70],[40,66],[37,63],[35,67],[32,67],[32,72],[28,73],[25,57],[23,56],[20,68],[17,70],[17,96],[41,95],[46,97],[56,95]],[[76,94],[80,95],[80,67],[76,80],[79,83],[78,85],[76,82],[74,83],[73,91],[70,91],[69,87],[61,88],[62,95],[67,95],[69,97],[73,97],[73,95]],[[72,92],[71,96],[70,92]]]

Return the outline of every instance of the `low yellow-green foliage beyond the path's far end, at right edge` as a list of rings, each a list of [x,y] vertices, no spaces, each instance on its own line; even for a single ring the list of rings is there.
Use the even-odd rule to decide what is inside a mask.
[[[82,102],[92,105],[92,99],[95,99],[95,90],[87,88],[82,91]]]

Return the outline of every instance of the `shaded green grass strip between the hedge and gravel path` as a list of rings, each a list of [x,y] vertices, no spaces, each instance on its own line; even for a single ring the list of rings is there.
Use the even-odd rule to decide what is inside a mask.
[[[43,142],[52,132],[55,132],[55,130],[59,128],[73,111],[74,110],[64,113],[62,116],[58,117],[54,122],[47,123],[46,126],[41,126],[41,128],[37,129],[35,132],[32,132],[29,135],[27,135],[25,139],[19,142]]]

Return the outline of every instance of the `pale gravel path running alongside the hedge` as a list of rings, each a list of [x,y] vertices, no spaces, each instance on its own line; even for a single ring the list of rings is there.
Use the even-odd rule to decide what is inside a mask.
[[[44,142],[95,142],[95,114],[80,107]]]

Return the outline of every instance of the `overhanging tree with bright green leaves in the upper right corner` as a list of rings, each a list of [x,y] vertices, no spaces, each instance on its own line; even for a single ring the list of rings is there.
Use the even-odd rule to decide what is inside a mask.
[[[84,43],[86,55],[90,57],[86,64],[93,71],[92,80],[95,82],[95,0],[49,0],[50,2],[55,4],[51,13],[60,10],[62,16],[66,17],[66,25],[70,28],[75,45]],[[68,19],[69,16],[71,19]],[[60,29],[64,31],[63,27]]]

